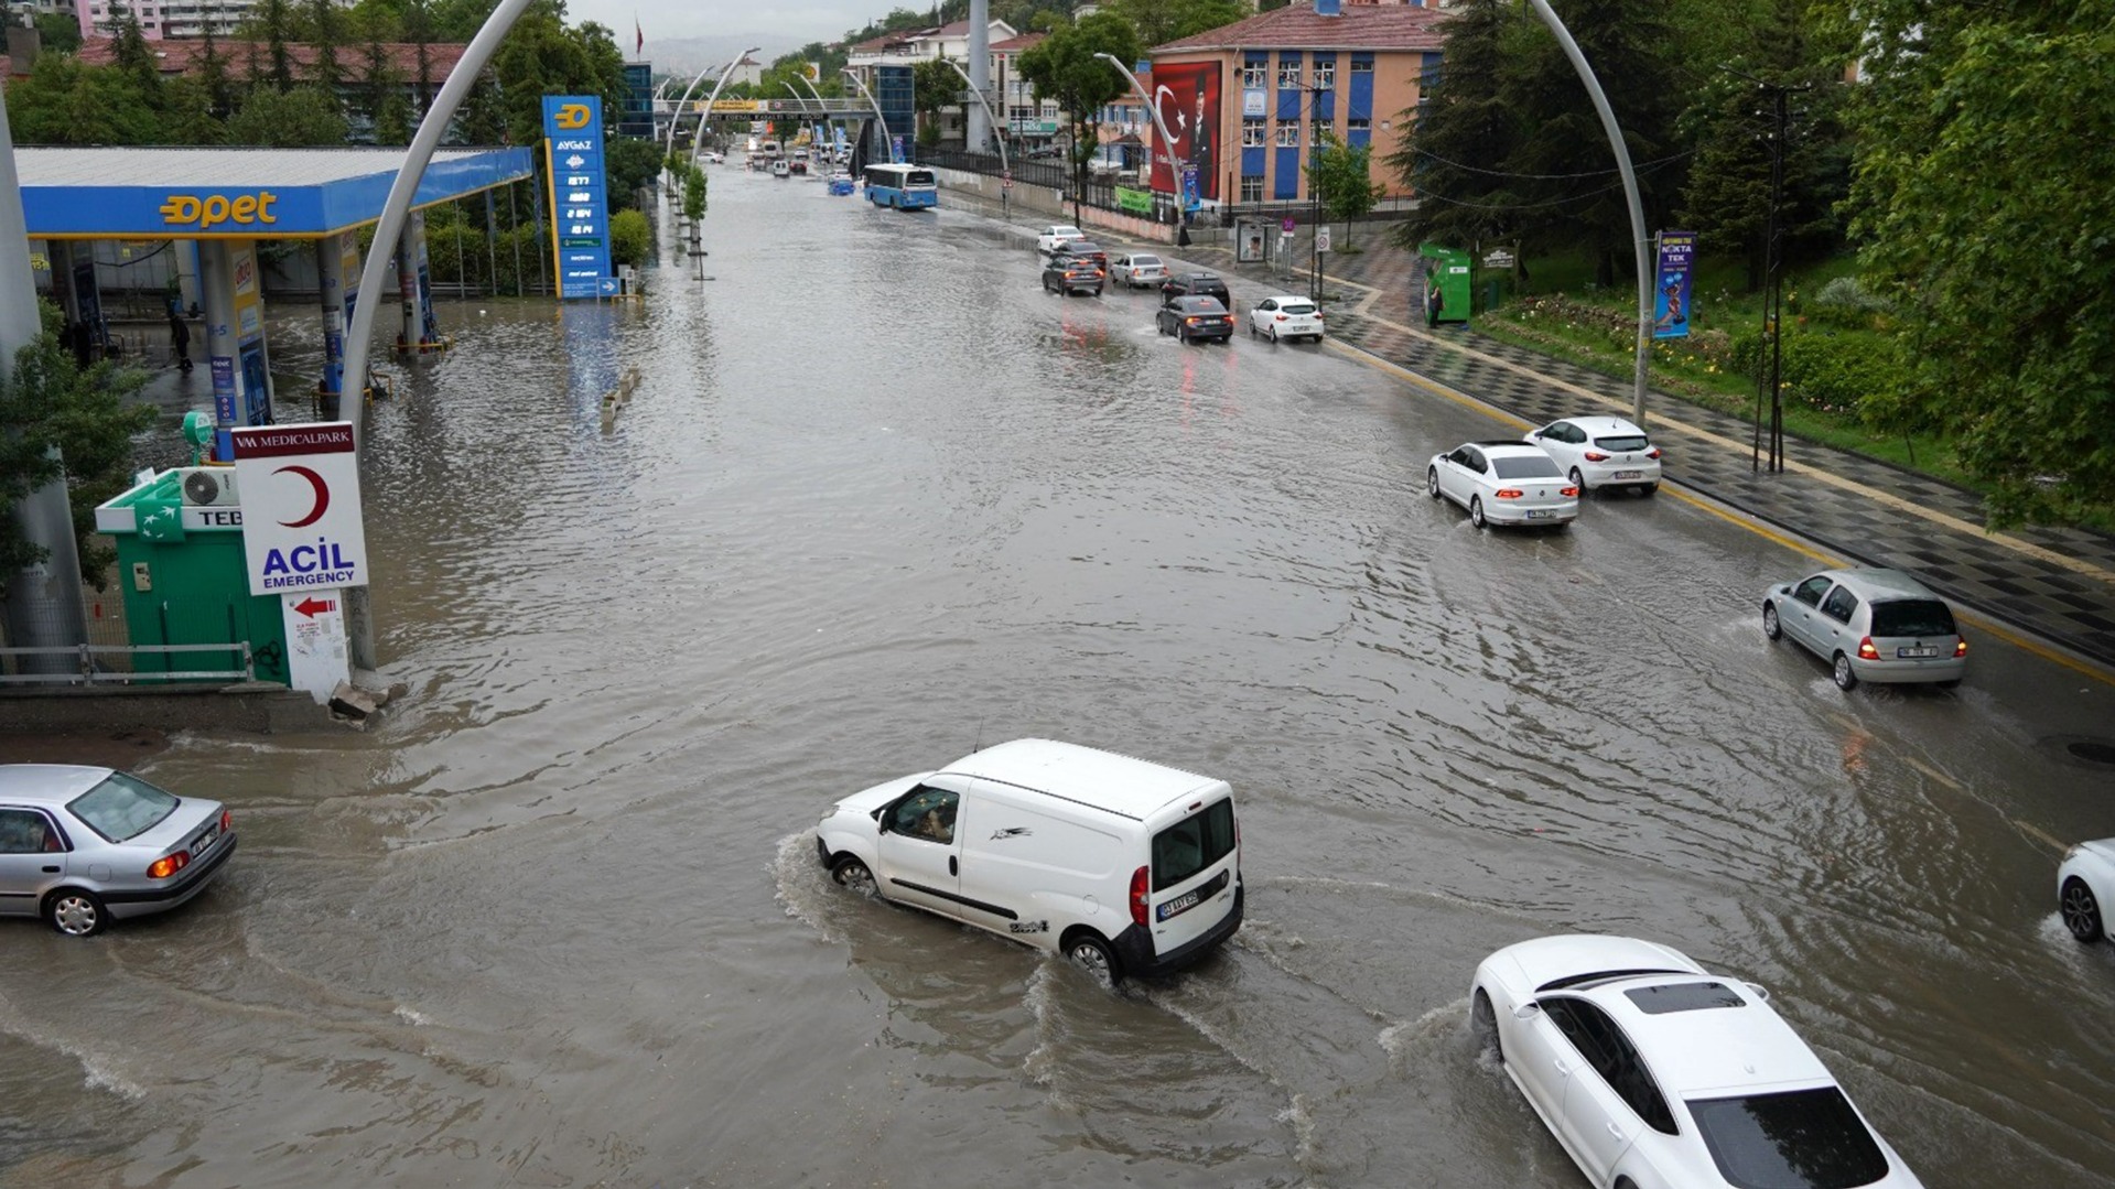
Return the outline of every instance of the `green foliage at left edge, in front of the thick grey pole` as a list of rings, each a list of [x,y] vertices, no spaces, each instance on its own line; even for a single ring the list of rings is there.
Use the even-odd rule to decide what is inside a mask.
[[[95,546],[95,506],[131,484],[131,438],[154,421],[154,408],[133,404],[146,372],[118,368],[108,360],[87,370],[59,347],[59,309],[38,303],[42,328],[15,351],[15,368],[0,383],[0,590],[4,575],[44,559],[21,535],[15,506],[53,478],[66,474],[80,552],[80,578],[102,586],[112,561],[108,546]],[[59,459],[49,451],[57,446]]]

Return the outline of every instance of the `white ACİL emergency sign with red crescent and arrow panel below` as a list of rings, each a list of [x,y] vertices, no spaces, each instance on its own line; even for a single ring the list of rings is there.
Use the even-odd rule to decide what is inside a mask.
[[[326,702],[351,679],[343,588],[368,584],[353,423],[256,425],[233,436],[250,592],[279,594],[288,683]]]

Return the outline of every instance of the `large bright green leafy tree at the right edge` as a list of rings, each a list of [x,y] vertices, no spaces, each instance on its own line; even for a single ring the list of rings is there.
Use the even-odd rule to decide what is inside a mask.
[[[1994,525],[2115,491],[2115,2],[1859,4],[1853,237],[1893,298],[1895,429],[1950,434]]]

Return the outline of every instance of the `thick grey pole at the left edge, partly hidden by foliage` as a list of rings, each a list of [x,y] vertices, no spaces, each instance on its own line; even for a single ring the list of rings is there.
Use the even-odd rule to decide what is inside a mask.
[[[30,233],[21,214],[21,178],[15,173],[15,135],[0,97],[0,383],[15,381],[15,351],[42,334],[36,281],[30,275]],[[0,434],[8,427],[0,425]],[[61,468],[57,449],[47,453]],[[80,614],[80,554],[74,544],[74,510],[66,495],[66,472],[15,504],[15,523],[47,556],[8,575],[6,635],[17,647],[68,647],[87,641]],[[78,664],[68,656],[25,656],[21,673],[63,675]]]

